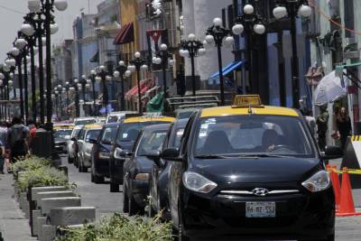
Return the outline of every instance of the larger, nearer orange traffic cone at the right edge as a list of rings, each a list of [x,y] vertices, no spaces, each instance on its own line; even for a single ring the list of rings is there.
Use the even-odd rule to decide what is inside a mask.
[[[344,168],[342,172],[341,199],[339,201],[339,209],[336,215],[338,217],[361,215],[361,213],[356,213],[355,210],[347,168]]]

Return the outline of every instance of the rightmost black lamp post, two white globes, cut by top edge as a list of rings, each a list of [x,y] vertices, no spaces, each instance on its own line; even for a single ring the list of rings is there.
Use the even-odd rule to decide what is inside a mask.
[[[303,17],[309,17],[312,9],[307,0],[277,0],[276,7],[273,9],[273,16],[276,19],[282,19],[287,15],[291,20],[291,38],[292,38],[292,101],[294,108],[300,108],[300,72],[299,59],[297,56],[297,25],[296,17],[300,13]]]

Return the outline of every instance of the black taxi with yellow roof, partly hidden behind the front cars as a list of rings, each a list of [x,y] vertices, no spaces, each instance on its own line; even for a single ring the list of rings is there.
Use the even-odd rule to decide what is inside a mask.
[[[109,159],[110,191],[119,191],[119,185],[123,184],[123,164],[135,143],[138,134],[144,126],[167,124],[174,121],[173,117],[159,116],[157,114],[126,115],[117,130]]]

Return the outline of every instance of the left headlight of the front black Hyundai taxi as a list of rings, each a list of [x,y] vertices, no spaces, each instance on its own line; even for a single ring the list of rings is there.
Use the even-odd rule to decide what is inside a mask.
[[[193,171],[186,171],[183,174],[183,184],[189,190],[194,190],[202,193],[208,193],[217,187],[213,181],[209,181],[199,173]]]

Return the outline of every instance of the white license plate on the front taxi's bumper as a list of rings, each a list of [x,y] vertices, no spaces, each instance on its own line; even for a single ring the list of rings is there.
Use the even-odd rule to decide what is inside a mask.
[[[275,202],[245,202],[245,218],[276,217]]]

